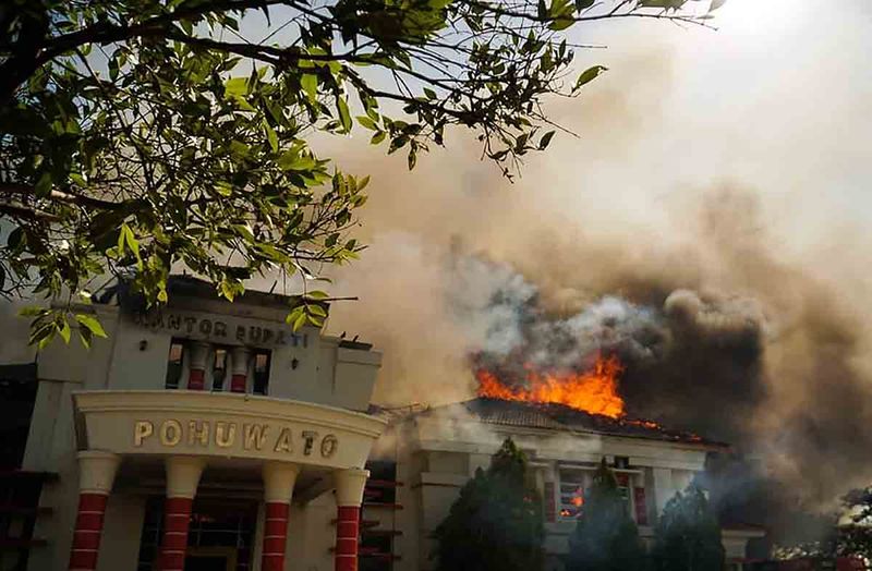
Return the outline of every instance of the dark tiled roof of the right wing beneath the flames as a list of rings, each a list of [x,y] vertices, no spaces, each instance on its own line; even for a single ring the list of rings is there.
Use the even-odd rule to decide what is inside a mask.
[[[421,414],[469,414],[486,424],[543,428],[558,432],[584,432],[629,438],[698,445],[706,448],[726,448],[728,445],[702,436],[671,430],[650,421],[611,418],[591,414],[562,404],[504,401],[477,398],[443,406],[434,406]]]

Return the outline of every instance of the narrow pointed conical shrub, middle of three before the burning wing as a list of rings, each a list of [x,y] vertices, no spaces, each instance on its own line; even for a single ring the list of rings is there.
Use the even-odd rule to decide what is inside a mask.
[[[584,493],[584,506],[569,538],[566,568],[567,571],[641,571],[646,568],[639,530],[605,459]]]

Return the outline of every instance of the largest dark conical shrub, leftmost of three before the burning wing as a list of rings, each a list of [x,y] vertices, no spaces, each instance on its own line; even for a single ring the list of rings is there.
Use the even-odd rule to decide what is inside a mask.
[[[434,538],[438,571],[542,569],[542,502],[511,438],[463,486]]]

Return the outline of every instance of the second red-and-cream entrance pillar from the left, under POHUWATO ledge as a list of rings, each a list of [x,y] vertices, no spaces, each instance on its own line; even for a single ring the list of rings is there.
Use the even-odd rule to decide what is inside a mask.
[[[197,457],[167,458],[167,499],[158,571],[182,571],[187,551],[191,508],[206,461]]]

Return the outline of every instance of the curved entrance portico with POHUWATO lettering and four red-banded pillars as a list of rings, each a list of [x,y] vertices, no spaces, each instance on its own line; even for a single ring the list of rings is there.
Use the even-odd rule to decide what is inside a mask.
[[[184,569],[203,474],[229,465],[262,482],[262,570],[286,569],[288,535],[294,533],[289,512],[299,479],[336,489],[336,570],[356,569],[360,505],[368,475],[362,467],[383,421],[233,393],[83,391],[73,399],[81,500],[70,570],[96,569],[102,514],[119,466],[146,474],[160,464],[166,488],[159,571]]]

